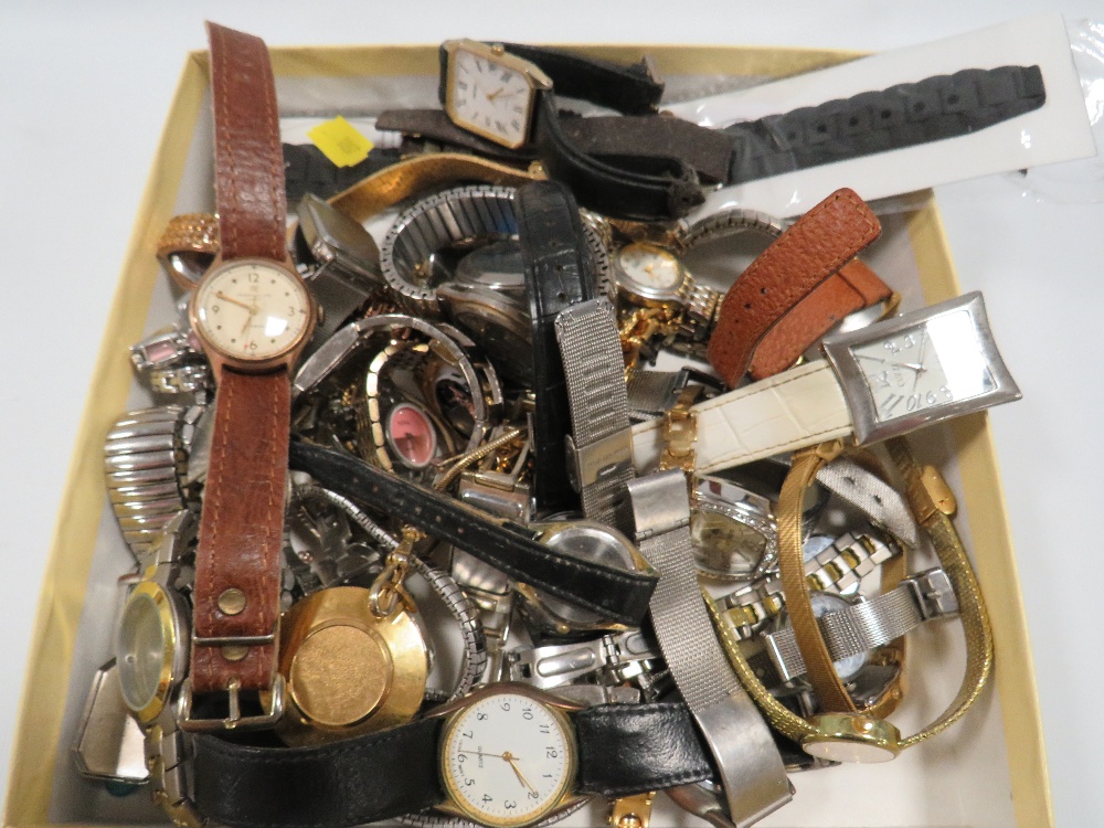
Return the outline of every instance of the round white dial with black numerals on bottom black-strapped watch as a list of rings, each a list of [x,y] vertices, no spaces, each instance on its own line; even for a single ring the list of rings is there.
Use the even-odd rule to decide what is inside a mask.
[[[512,828],[538,821],[569,790],[574,736],[564,716],[529,696],[488,694],[449,721],[442,775],[476,821]]]

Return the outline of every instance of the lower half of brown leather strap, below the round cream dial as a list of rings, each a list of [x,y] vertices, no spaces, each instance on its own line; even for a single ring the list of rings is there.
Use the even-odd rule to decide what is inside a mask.
[[[197,693],[225,691],[234,678],[242,690],[272,687],[290,411],[287,371],[223,369],[195,554]]]

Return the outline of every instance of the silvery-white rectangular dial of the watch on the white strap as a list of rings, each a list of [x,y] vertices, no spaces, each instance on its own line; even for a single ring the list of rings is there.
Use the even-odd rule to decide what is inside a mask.
[[[879,423],[923,416],[996,389],[965,310],[852,347],[851,353]]]

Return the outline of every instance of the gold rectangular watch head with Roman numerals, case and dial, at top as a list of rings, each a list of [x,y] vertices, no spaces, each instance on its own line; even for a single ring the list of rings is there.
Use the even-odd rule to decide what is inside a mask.
[[[456,126],[518,149],[529,140],[539,89],[551,81],[535,65],[479,41],[447,41],[445,112]]]

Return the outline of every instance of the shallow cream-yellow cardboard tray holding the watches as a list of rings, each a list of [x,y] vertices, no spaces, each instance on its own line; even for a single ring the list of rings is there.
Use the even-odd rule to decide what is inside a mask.
[[[573,46],[574,47],[574,46]],[[806,72],[856,55],[784,49],[594,46],[619,61],[655,56],[670,94],[690,96]],[[284,116],[322,119],[435,100],[433,46],[274,49]],[[212,210],[211,118],[205,52],[189,55],[127,248],[93,386],[77,436],[39,603],[15,734],[4,825],[163,822],[144,793],[109,796],[74,769],[71,745],[92,676],[112,651],[119,575],[131,559],[107,503],[103,444],[114,421],[150,404],[132,382],[128,349],[171,318],[174,288],[155,257],[168,220]],[[958,294],[934,201],[883,217],[869,263],[903,296],[903,309]],[[999,339],[1001,321],[994,320]],[[1007,326],[1005,326],[1007,328]],[[1015,367],[1013,367],[1015,369]],[[1016,561],[986,415],[927,429],[915,439],[941,464],[959,502],[957,526],[974,558],[992,619],[996,681],[966,719],[887,765],[793,776],[794,803],[763,826],[1051,826],[1039,704]],[[923,564],[923,561],[919,562]],[[909,733],[954,696],[964,647],[954,627],[910,637],[909,696],[894,722]],[[933,667],[937,665],[937,667]],[[652,825],[703,825],[664,798]],[[598,808],[564,825],[596,825]]]

